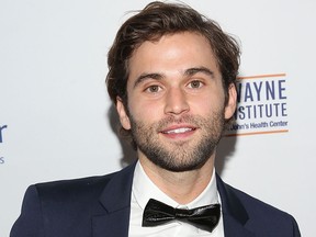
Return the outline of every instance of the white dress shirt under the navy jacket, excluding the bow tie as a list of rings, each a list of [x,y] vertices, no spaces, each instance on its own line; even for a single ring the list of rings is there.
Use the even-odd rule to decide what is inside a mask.
[[[211,236],[224,237],[223,215],[221,211],[221,218],[215,229],[210,233],[188,223],[172,221],[163,225],[155,227],[143,227],[143,212],[149,199],[156,199],[167,205],[178,208],[194,208],[198,206],[221,203],[221,199],[216,188],[215,170],[206,189],[191,203],[180,205],[174,200],[165,194],[145,173],[140,162],[135,167],[134,180],[132,187],[131,199],[131,218],[129,218],[129,237],[162,237],[162,236]]]

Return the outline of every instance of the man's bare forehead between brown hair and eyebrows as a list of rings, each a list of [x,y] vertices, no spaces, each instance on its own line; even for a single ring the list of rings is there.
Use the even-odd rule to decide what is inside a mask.
[[[129,79],[143,72],[176,72],[192,67],[205,67],[218,71],[213,48],[201,34],[182,32],[146,41],[133,53],[129,61]]]

